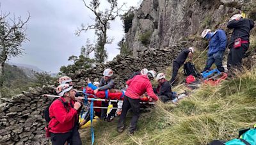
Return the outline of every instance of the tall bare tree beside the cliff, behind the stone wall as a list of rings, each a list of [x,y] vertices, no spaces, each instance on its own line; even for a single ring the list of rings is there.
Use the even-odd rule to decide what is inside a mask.
[[[99,0],[92,0],[90,4],[86,4],[85,0],[84,6],[88,8],[88,10],[92,11],[95,15],[95,24],[87,25],[81,24],[81,29],[76,32],[76,35],[79,36],[81,32],[88,31],[90,29],[95,30],[95,34],[97,36],[97,44],[93,47],[90,47],[90,51],[95,52],[95,59],[97,62],[104,62],[108,59],[108,55],[106,53],[105,45],[108,43],[112,43],[113,39],[109,39],[107,36],[107,31],[110,28],[109,22],[115,20],[118,17],[118,12],[122,10],[122,6],[118,8],[117,0],[107,0],[110,8],[106,8],[106,10],[101,11],[99,10],[100,2]]]

